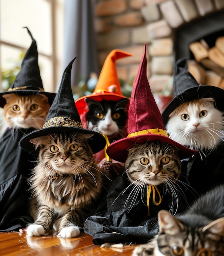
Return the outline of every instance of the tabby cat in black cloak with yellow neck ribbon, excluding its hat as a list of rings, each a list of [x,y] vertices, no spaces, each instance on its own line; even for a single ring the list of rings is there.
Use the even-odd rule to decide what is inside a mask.
[[[176,214],[186,204],[188,186],[182,180],[175,146],[147,141],[128,151],[126,171],[113,180],[98,212],[86,219],[84,232],[93,236],[96,244],[146,242],[158,232],[160,210]]]

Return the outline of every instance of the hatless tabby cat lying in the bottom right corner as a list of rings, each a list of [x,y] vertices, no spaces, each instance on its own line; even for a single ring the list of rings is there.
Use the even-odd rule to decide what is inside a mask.
[[[137,246],[133,256],[224,255],[224,185],[207,191],[180,216],[160,211],[158,220],[157,236]]]

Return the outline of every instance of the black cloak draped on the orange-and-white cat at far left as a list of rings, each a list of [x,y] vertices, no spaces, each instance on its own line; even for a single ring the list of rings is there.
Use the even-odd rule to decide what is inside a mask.
[[[7,129],[0,141],[0,231],[16,230],[33,222],[28,213],[27,178],[36,159],[18,145],[32,130]]]

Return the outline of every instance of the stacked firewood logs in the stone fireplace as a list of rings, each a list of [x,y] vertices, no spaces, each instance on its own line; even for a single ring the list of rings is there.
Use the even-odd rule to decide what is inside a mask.
[[[195,60],[188,61],[188,70],[202,85],[213,85],[224,89],[224,36],[210,47],[205,40],[189,45]]]

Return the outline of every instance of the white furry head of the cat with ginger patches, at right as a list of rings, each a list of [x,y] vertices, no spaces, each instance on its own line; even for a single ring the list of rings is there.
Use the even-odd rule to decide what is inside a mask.
[[[224,117],[213,99],[198,99],[180,104],[166,124],[169,137],[200,152],[213,151],[223,140]]]

